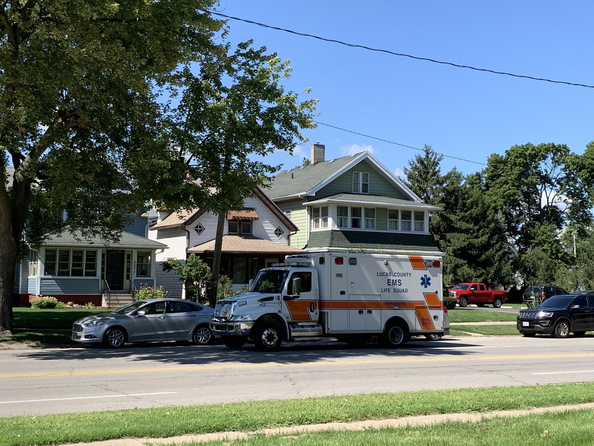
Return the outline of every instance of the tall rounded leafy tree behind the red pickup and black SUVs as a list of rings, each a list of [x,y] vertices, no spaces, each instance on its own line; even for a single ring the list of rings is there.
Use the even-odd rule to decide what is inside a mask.
[[[533,277],[537,247],[551,262],[567,261],[560,231],[568,221],[591,221],[592,199],[587,195],[583,161],[565,145],[513,146],[504,156],[491,155],[482,172],[484,190],[492,205],[500,209],[518,258],[516,269],[523,278]]]

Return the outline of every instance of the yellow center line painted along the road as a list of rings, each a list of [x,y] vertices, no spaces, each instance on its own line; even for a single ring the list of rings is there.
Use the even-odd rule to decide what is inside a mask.
[[[54,372],[54,373],[14,373],[11,375],[0,375],[0,378],[36,378],[39,376],[79,376],[79,375],[108,375],[113,373],[154,373],[154,372],[185,372],[193,370],[215,370],[215,369],[257,369],[272,367],[295,367],[295,366],[331,366],[331,365],[353,365],[353,364],[393,364],[402,362],[447,362],[447,361],[485,361],[498,359],[544,359],[544,358],[567,358],[567,357],[593,357],[594,353],[560,353],[560,354],[522,354],[502,356],[472,356],[472,357],[423,357],[423,358],[393,358],[393,359],[364,359],[364,360],[343,360],[343,361],[315,361],[315,362],[271,362],[266,364],[225,364],[225,365],[204,365],[192,367],[159,367],[150,369],[116,369],[116,370],[90,370],[87,372]]]

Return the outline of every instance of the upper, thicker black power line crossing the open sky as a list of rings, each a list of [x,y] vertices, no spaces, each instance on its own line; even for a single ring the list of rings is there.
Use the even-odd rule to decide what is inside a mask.
[[[168,0],[166,0],[166,1],[168,1]],[[495,71],[495,70],[489,70],[488,68],[478,68],[478,67],[472,67],[470,65],[460,65],[460,64],[454,64],[453,62],[438,61],[437,59],[430,59],[430,58],[421,57],[421,56],[413,56],[413,55],[404,54],[404,53],[397,53],[394,51],[390,51],[389,49],[372,48],[371,46],[357,45],[356,43],[347,43],[347,42],[343,42],[342,40],[328,39],[326,37],[316,36],[315,34],[301,33],[301,32],[293,31],[293,30],[286,29],[286,28],[280,28],[277,26],[267,25],[265,23],[259,23],[257,21],[253,21],[253,20],[247,20],[246,18],[233,17],[232,15],[226,15],[226,14],[223,14],[222,12],[203,10],[201,8],[191,7],[191,6],[184,5],[184,4],[177,3],[177,2],[168,1],[168,3],[173,4],[173,5],[178,5],[181,7],[191,8],[191,9],[197,10],[197,11],[206,12],[206,14],[218,15],[219,17],[223,17],[223,18],[228,18],[231,20],[237,20],[237,21],[242,21],[245,23],[253,24],[253,25],[258,25],[263,28],[269,28],[269,29],[273,29],[273,30],[277,30],[277,31],[283,31],[286,33],[296,34],[298,36],[303,36],[303,37],[311,37],[312,39],[323,40],[324,42],[339,43],[340,45],[350,46],[351,48],[362,48],[362,49],[366,49],[368,51],[382,52],[382,53],[390,54],[393,56],[407,57],[407,58],[416,59],[419,61],[432,62],[434,64],[450,65],[450,67],[465,68],[466,70],[483,71],[485,73],[499,74],[501,76],[511,76],[511,77],[519,77],[519,78],[523,78],[523,79],[539,80],[539,81],[550,82],[550,83],[554,83],[554,84],[570,85],[573,87],[594,88],[594,85],[579,84],[579,83],[567,82],[567,81],[563,81],[563,80],[552,80],[552,79],[547,79],[544,77],[525,76],[524,74],[507,73],[506,71]]]

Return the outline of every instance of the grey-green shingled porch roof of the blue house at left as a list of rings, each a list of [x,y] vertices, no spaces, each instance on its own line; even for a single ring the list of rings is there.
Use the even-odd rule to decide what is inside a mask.
[[[65,246],[65,247],[105,247],[118,249],[166,249],[168,246],[159,241],[149,240],[122,231],[119,241],[110,241],[100,235],[83,237],[80,231],[71,233],[68,230],[59,234],[51,234],[42,243],[42,246]]]

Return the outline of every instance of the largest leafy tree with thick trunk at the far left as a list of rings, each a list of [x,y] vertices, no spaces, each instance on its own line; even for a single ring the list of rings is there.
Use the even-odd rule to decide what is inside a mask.
[[[12,332],[12,284],[34,184],[71,230],[116,238],[149,195],[182,200],[185,160],[159,145],[154,87],[204,55],[222,22],[213,0],[29,0],[0,10],[0,333]],[[147,175],[147,172],[149,174]],[[172,180],[158,187],[155,177]],[[151,181],[151,179],[153,181]],[[182,177],[183,179],[183,177]],[[181,193],[187,192],[187,194]]]

